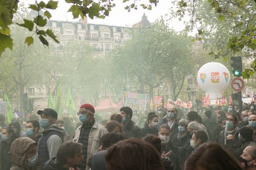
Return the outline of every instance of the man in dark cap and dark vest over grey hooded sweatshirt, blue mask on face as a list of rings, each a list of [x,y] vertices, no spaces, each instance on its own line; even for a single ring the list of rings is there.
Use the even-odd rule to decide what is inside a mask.
[[[63,143],[64,130],[56,125],[57,112],[46,108],[39,110],[41,116],[40,127],[43,128],[42,137],[38,142],[38,158],[41,159],[41,167],[47,160],[56,156],[57,150]]]

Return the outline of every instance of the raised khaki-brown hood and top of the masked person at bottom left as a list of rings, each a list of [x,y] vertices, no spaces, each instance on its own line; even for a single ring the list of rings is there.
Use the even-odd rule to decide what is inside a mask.
[[[36,142],[30,138],[27,137],[21,137],[15,139],[15,141],[11,144],[11,162],[13,163],[13,166],[11,167],[11,170],[36,170],[40,169],[40,163],[35,167],[29,167],[27,165],[26,160],[26,151],[31,146],[36,144]]]

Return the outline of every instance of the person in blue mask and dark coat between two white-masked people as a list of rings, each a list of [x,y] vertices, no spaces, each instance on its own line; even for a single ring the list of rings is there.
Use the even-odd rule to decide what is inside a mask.
[[[184,163],[187,158],[185,148],[188,147],[188,143],[191,139],[187,131],[188,120],[181,119],[178,125],[179,132],[172,138],[172,143],[174,144],[175,150],[177,150],[180,169],[184,169]]]

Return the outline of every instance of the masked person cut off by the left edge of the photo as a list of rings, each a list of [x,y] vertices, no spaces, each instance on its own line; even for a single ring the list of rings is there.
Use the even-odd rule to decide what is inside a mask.
[[[14,130],[8,127],[2,130],[2,141],[0,142],[0,169],[10,170],[11,164],[11,154],[10,147],[11,143],[18,138],[14,135]]]

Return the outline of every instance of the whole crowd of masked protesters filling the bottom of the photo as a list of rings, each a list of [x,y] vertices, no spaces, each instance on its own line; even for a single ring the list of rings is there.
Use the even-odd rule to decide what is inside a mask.
[[[256,169],[256,105],[97,113],[46,108],[6,124],[0,169]]]

